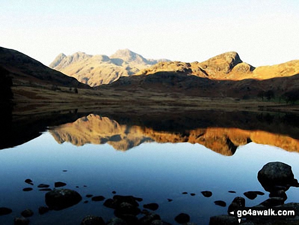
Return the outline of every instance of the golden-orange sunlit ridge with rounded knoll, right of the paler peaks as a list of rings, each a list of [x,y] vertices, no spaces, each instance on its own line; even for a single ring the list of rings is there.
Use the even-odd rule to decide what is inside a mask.
[[[160,62],[150,68],[140,71],[138,74],[153,74],[159,71],[182,71],[197,77],[214,80],[264,80],[276,77],[289,77],[299,73],[299,60],[286,63],[253,67],[243,62],[236,52],[228,52],[204,62]]]

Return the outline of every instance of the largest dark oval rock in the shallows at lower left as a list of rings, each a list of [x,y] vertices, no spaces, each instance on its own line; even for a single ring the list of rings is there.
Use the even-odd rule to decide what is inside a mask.
[[[55,189],[45,194],[46,205],[53,210],[62,210],[81,201],[81,195],[70,189]]]

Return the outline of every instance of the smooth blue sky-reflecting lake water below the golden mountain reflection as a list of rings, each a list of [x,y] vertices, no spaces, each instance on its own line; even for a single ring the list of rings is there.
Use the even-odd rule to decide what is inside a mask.
[[[214,201],[222,200],[228,206],[235,196],[244,197],[246,191],[265,193],[254,200],[245,197],[247,206],[268,198],[257,180],[257,172],[267,162],[287,163],[292,166],[295,178],[299,178],[299,154],[271,145],[251,142],[238,146],[229,156],[199,143],[156,141],[144,141],[127,151],[118,151],[107,141],[76,146],[69,137],[69,142],[60,143],[53,130],[0,151],[0,207],[13,210],[12,214],[0,216],[0,224],[13,224],[13,218],[28,208],[35,213],[30,224],[80,224],[90,214],[107,221],[113,217],[113,210],[104,207],[103,202],[90,201],[85,195],[110,198],[112,191],[142,197],[141,206],[157,203],[159,208],[155,213],[170,223],[177,224],[174,218],[183,212],[191,217],[191,222],[208,224],[210,216],[227,214],[227,207],[216,206]],[[25,179],[33,180],[34,186],[24,183]],[[45,192],[39,191],[37,185],[44,183],[53,188],[58,181],[65,182],[65,188],[78,191],[83,201],[39,215],[38,208],[45,206]],[[25,187],[33,190],[24,192]],[[211,191],[212,196],[204,197],[201,191],[205,190]],[[286,193],[286,203],[299,202],[298,188],[291,187]],[[168,202],[168,198],[173,201]],[[89,202],[83,203],[86,200]]]

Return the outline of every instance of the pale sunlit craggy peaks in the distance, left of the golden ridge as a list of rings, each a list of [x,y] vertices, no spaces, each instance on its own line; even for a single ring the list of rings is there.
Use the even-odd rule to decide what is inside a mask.
[[[129,49],[122,49],[110,57],[106,55],[92,56],[81,52],[70,56],[60,54],[49,67],[93,87],[101,84],[109,84],[120,77],[131,76],[141,69],[160,61],[169,60],[145,59],[143,56],[133,53]]]

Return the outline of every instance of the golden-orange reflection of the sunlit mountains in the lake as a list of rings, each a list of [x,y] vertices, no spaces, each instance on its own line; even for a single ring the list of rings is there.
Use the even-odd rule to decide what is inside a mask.
[[[238,128],[198,128],[182,132],[155,131],[152,128],[119,124],[108,117],[90,114],[49,129],[58,143],[70,142],[77,146],[87,143],[110,144],[115,149],[126,151],[144,142],[199,143],[216,153],[231,156],[236,148],[249,142],[277,146],[289,152],[299,152],[299,140],[286,135],[260,130]]]

